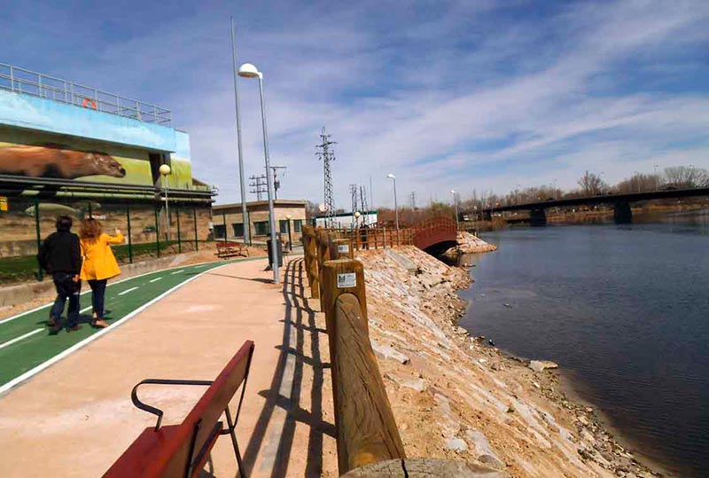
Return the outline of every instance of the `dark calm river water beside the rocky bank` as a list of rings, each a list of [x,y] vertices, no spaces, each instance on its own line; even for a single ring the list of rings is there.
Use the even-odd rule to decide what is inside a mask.
[[[460,322],[557,362],[631,448],[709,476],[709,213],[482,235]]]

